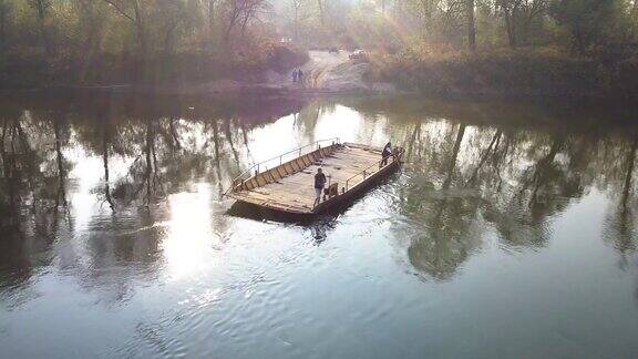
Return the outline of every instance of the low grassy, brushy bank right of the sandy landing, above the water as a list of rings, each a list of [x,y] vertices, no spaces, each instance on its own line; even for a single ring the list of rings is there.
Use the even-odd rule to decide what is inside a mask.
[[[638,58],[550,50],[371,58],[373,76],[430,94],[638,96]]]

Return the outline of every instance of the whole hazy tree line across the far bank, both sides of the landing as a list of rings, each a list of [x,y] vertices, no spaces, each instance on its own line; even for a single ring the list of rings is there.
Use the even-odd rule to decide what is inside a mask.
[[[45,69],[91,82],[195,69],[197,78],[268,63],[282,42],[632,53],[637,25],[636,0],[0,0],[0,73]]]

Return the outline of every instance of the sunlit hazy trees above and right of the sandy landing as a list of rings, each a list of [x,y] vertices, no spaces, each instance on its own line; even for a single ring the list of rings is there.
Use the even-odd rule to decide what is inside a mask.
[[[636,45],[634,0],[282,0],[278,29],[323,45],[495,49],[558,45],[585,55]]]

